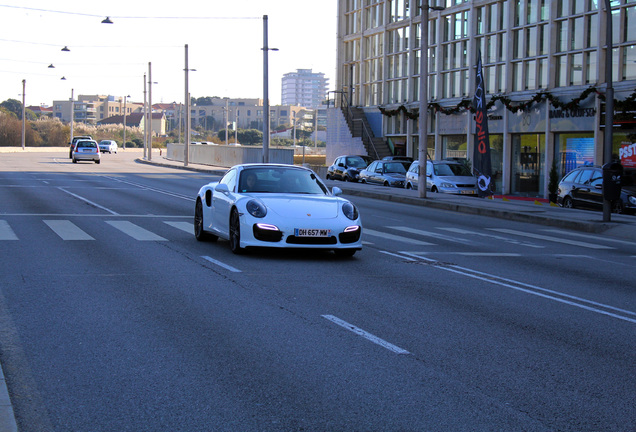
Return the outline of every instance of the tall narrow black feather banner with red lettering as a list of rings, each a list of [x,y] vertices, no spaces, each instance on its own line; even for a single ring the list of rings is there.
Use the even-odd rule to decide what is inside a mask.
[[[490,136],[488,135],[488,113],[486,89],[481,67],[481,51],[477,53],[477,81],[475,85],[475,148],[473,150],[473,172],[477,176],[480,197],[492,195],[492,167],[490,162]],[[494,186],[494,185],[493,185]]]

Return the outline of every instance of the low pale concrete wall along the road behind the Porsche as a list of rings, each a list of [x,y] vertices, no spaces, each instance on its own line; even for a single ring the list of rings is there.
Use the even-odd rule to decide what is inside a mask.
[[[185,144],[168,143],[166,158],[183,161]],[[195,164],[230,168],[243,163],[263,162],[262,147],[190,144],[188,161]],[[294,164],[293,149],[269,149],[271,163]]]

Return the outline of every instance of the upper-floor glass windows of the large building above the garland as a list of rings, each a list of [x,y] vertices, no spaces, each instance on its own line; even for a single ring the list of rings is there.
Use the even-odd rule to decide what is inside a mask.
[[[367,0],[371,2],[372,0]],[[448,3],[448,2],[447,2]],[[454,2],[453,2],[454,3]],[[507,15],[507,3],[493,3],[475,8],[478,35],[474,41],[468,37],[468,11],[446,16],[441,23],[443,40],[436,44],[437,21],[429,25],[429,73],[431,74],[431,99],[465,97],[469,92],[469,73],[472,70],[470,50],[472,43],[483,55],[486,91],[501,93],[553,87],[594,84],[598,82],[599,14],[598,2],[593,0],[567,0],[559,2],[558,10],[580,16],[565,17],[556,21],[554,47],[550,49],[550,26],[545,23],[550,2],[544,0],[516,0],[515,22],[534,23],[511,30],[500,31]],[[630,5],[633,4],[633,5]],[[380,7],[382,2],[373,0]],[[392,8],[396,6],[392,2]],[[636,79],[636,0],[614,0],[612,18],[615,24],[613,51],[613,74],[615,81]],[[620,7],[619,7],[620,6]],[[631,27],[630,28],[630,24]],[[495,29],[496,31],[492,31]],[[413,32],[413,34],[411,34]],[[483,36],[481,36],[483,35]],[[510,38],[510,36],[512,36]],[[373,91],[359,103],[398,103],[418,100],[420,24],[376,33],[364,39],[367,56],[364,61],[362,82],[373,84]],[[383,45],[386,38],[387,52]],[[617,39],[618,38],[618,39]],[[415,44],[409,47],[409,41]],[[508,40],[512,46],[509,51]],[[346,68],[360,59],[360,40],[344,44]],[[631,43],[631,44],[630,44]],[[410,48],[410,51],[409,51]],[[469,50],[470,49],[470,50]],[[511,54],[507,62],[507,54]],[[552,53],[551,59],[549,54]],[[409,62],[410,57],[413,61]],[[386,63],[383,64],[383,59]],[[551,65],[551,66],[550,66]],[[384,70],[383,67],[387,69]],[[508,69],[508,72],[506,71]],[[552,70],[552,75],[550,74]],[[386,75],[385,75],[386,74]],[[386,83],[383,82],[386,79]],[[410,77],[410,78],[409,78]],[[353,77],[357,84],[358,76]],[[398,80],[398,81],[395,81]],[[351,79],[345,77],[345,86]],[[395,82],[393,82],[395,81]],[[439,82],[439,87],[436,84]],[[386,87],[384,85],[386,84]],[[410,90],[408,89],[410,86]],[[371,88],[371,87],[369,87]],[[384,89],[384,95],[382,92]],[[358,89],[359,91],[360,89]],[[385,97],[383,97],[385,96]],[[409,97],[410,96],[410,97]]]

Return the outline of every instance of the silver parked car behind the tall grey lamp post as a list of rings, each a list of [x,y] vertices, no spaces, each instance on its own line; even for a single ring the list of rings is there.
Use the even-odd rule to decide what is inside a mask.
[[[426,189],[458,195],[477,195],[477,178],[472,175],[466,165],[453,161],[426,162]],[[406,173],[404,187],[417,189],[420,165],[415,161]]]

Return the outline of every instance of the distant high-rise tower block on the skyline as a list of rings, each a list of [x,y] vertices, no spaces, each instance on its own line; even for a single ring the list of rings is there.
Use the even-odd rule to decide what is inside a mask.
[[[281,104],[318,108],[327,97],[328,81],[324,73],[311,69],[286,73],[282,79]]]

